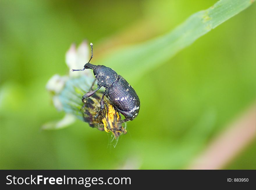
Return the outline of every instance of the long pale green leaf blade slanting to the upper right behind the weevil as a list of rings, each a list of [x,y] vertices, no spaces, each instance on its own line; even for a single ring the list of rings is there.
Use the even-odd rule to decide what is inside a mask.
[[[135,82],[139,76],[172,58],[199,37],[237,15],[253,3],[252,0],[221,0],[207,10],[191,15],[173,31],[146,41],[127,46],[104,56],[99,63],[125,73],[125,78]],[[136,69],[137,72],[134,72]]]

